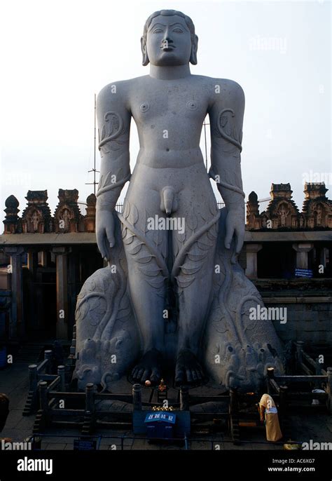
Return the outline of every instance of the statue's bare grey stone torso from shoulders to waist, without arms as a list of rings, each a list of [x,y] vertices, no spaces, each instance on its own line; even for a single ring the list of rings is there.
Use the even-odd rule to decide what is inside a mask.
[[[144,76],[130,81],[129,104],[140,144],[138,164],[181,168],[203,161],[200,135],[212,80],[190,76],[166,81]]]

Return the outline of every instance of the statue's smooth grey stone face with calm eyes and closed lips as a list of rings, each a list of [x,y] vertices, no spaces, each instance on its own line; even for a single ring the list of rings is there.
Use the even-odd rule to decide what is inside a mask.
[[[159,15],[153,18],[146,38],[152,65],[186,65],[191,58],[191,32],[184,18]]]

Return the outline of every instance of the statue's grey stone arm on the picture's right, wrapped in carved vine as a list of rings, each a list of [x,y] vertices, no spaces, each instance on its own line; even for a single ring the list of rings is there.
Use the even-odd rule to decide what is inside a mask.
[[[236,252],[244,241],[244,192],[241,177],[241,142],[244,93],[233,81],[220,81],[209,108],[211,129],[211,168],[209,175],[218,186],[228,210],[225,246],[237,237]]]

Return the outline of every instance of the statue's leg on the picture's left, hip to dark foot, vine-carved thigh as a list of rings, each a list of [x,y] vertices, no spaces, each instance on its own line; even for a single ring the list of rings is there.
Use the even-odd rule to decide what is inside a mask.
[[[156,193],[157,194],[157,193]],[[132,370],[135,381],[146,380],[157,383],[161,378],[162,349],[164,346],[165,319],[165,280],[168,276],[165,258],[167,256],[167,231],[147,229],[149,219],[155,215],[162,217],[160,198],[156,195],[153,205],[153,193],[149,198],[150,217],[146,206],[139,205],[140,199],[135,192],[135,203],[130,198],[125,201],[125,208],[120,217],[123,224],[123,245],[128,267],[130,299],[139,325],[143,355]],[[141,201],[141,202],[143,202]],[[158,203],[157,203],[158,202]]]

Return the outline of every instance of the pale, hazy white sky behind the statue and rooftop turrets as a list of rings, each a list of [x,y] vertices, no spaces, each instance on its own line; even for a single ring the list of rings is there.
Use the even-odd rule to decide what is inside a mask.
[[[78,189],[81,202],[93,191],[94,95],[148,74],[140,37],[162,8],[195,24],[191,73],[244,90],[246,196],[290,182],[301,208],[307,179],[325,181],[332,198],[330,1],[0,0],[1,220],[11,194],[22,213],[29,189],[47,189],[53,213],[58,189]],[[138,150],[132,122],[132,169]]]

